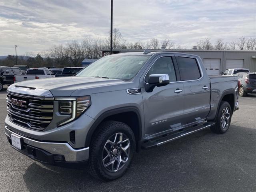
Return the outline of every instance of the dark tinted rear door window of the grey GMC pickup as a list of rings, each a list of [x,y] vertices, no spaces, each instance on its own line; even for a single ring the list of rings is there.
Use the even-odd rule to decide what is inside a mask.
[[[195,58],[176,57],[182,81],[196,80],[201,77]]]

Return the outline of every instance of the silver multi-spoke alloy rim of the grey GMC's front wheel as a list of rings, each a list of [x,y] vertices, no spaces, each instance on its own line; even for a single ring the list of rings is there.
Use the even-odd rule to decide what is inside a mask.
[[[130,156],[130,140],[124,133],[115,133],[106,141],[102,151],[102,163],[106,170],[121,170]]]

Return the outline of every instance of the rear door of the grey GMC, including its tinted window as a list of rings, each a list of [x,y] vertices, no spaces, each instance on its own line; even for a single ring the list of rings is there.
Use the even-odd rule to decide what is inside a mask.
[[[176,55],[180,79],[184,86],[184,122],[203,122],[210,111],[210,80],[197,57]]]

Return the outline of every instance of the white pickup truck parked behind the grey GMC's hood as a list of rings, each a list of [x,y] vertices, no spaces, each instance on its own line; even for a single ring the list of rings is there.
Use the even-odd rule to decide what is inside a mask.
[[[26,74],[15,76],[15,83],[26,81],[26,80],[44,79],[44,78],[51,78],[51,77],[55,77],[55,74],[49,69],[29,68],[26,71]]]

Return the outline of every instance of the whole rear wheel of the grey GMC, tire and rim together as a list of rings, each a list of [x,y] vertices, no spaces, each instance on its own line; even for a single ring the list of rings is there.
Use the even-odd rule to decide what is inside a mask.
[[[231,114],[230,104],[226,101],[222,101],[216,117],[216,124],[211,127],[212,132],[218,134],[225,133],[230,126]]]

